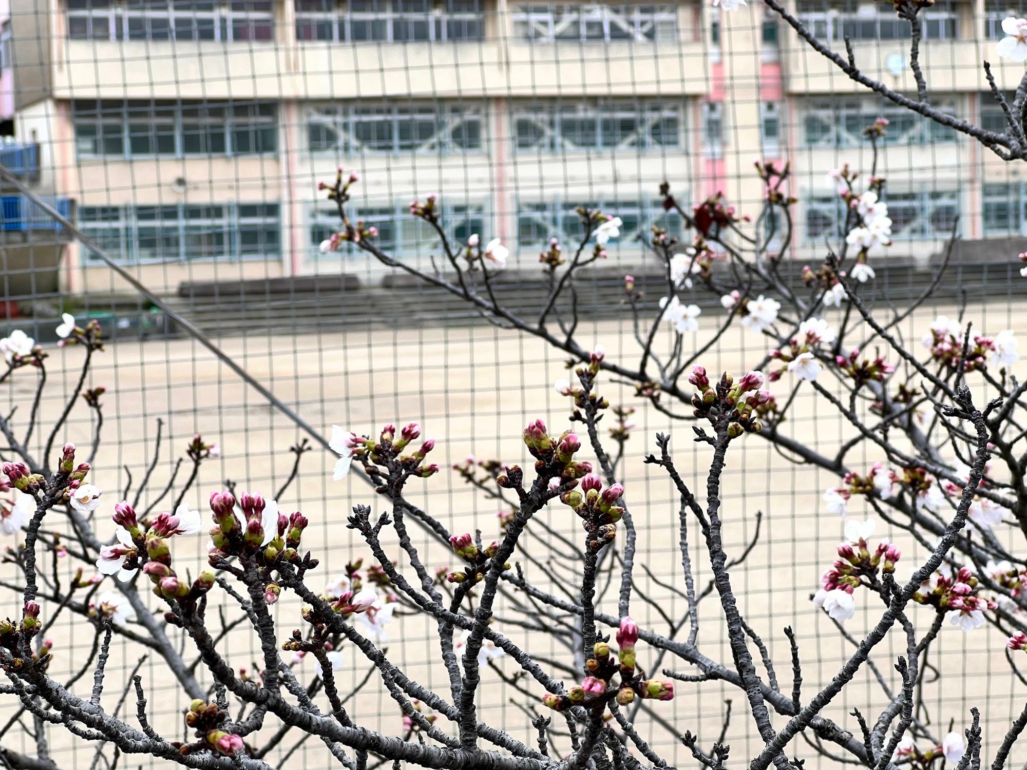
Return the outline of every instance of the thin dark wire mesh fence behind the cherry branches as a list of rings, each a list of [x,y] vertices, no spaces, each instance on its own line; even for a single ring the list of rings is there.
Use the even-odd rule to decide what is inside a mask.
[[[0,160],[31,195],[73,222],[159,300],[148,300],[30,194],[7,185],[0,200],[4,328],[49,345],[55,318],[67,311],[80,320],[98,318],[110,338],[88,380],[108,388],[104,448],[93,471],[106,490],[106,512],[129,473],[139,484],[158,430],[159,456],[144,500],[161,493],[194,433],[222,447],[221,458],[200,469],[187,493],[201,510],[207,494],[228,479],[238,489],[276,490],[293,467],[290,447],[304,437],[286,412],[219,363],[208,345],[184,334],[176,313],[322,435],[333,423],[370,433],[386,422],[417,420],[439,439],[439,462],[448,468],[468,454],[522,462],[520,431],[529,418],[565,424],[567,403],[551,388],[564,374],[558,351],[497,330],[356,252],[318,252],[334,220],[316,184],[331,179],[339,163],[362,177],[358,215],[403,260],[423,267],[438,255],[435,240],[406,211],[411,198],[428,193],[439,195],[453,237],[502,237],[512,254],[500,291],[526,308],[542,294],[536,255],[553,236],[575,236],[575,206],[620,216],[623,232],[609,259],[582,281],[581,314],[611,356],[627,355],[634,343],[619,302],[623,274],[637,276],[653,307],[659,296],[639,235],[652,223],[681,227],[660,208],[661,182],[670,181],[680,200],[724,190],[753,214],[762,197],[753,160],[790,161],[791,189],[800,199],[792,252],[797,269],[820,261],[839,227],[826,171],[847,162],[869,176],[871,154],[861,131],[884,116],[890,124],[876,174],[888,179],[896,242],[875,262],[877,306],[901,306],[922,290],[958,219],[962,239],[938,298],[904,323],[906,337],[918,339],[936,312],[964,314],[988,332],[1018,329],[1023,317],[1023,279],[1013,264],[1027,227],[1019,169],[857,89],[758,6],[720,15],[698,3],[38,0],[0,7],[0,15],[4,10],[0,84],[13,136]],[[887,4],[800,0],[795,10],[834,45],[842,36],[854,38],[868,71],[896,87],[910,86],[908,33]],[[1006,12],[999,4],[952,2],[924,14],[924,67],[936,104],[977,122],[995,119],[979,63],[990,53],[995,20]],[[1002,87],[1019,79],[1006,70],[999,76]],[[703,307],[709,333],[717,308]],[[696,344],[701,339],[696,335]],[[737,370],[766,349],[762,338],[739,329],[724,335],[705,363]],[[47,350],[51,382],[42,411],[52,415],[71,392],[80,351]],[[688,442],[686,423],[671,426],[632,388],[604,387],[612,402],[638,410],[624,465],[644,565],[637,590],[680,620],[686,606],[678,592],[676,501],[665,478],[642,458],[655,432],[669,427],[680,465],[694,476],[702,474],[705,456]],[[6,410],[33,388],[25,378],[5,385]],[[84,409],[73,413],[68,437],[87,441],[92,419]],[[802,401],[790,424],[795,435],[824,450],[845,434],[842,418],[813,399]],[[32,446],[37,452],[40,440]],[[860,459],[869,465],[881,458],[866,453]],[[326,580],[346,562],[368,556],[345,529],[349,506],[382,508],[359,479],[333,484],[333,460],[320,448],[305,456],[298,483],[279,501],[313,523]],[[169,484],[168,501],[183,477]],[[725,476],[729,551],[738,553],[755,539],[735,578],[747,619],[783,671],[788,645],[782,628],[797,628],[810,690],[830,679],[850,649],[808,602],[840,531],[821,500],[833,480],[756,440],[734,453]],[[451,529],[477,526],[486,538],[497,529],[495,503],[471,494],[453,473],[424,485],[423,504]],[[574,532],[562,511],[551,511],[548,521]],[[911,539],[898,531],[892,536],[915,555]],[[432,567],[451,560],[426,535],[416,539]],[[191,547],[199,560],[202,539],[176,543],[176,557]],[[698,556],[697,584],[705,586],[709,570]],[[53,560],[61,569],[52,554],[46,567]],[[545,585],[546,571],[564,567],[527,569]],[[16,598],[4,595],[4,610],[13,615]],[[298,610],[289,601],[279,605],[284,633],[302,625]],[[667,628],[655,608],[642,604],[638,612],[640,621]],[[718,612],[713,602],[702,605],[700,640],[727,661]],[[859,637],[871,615],[858,615],[848,629]],[[445,671],[429,662],[430,628],[404,617],[388,633],[390,657],[445,692]],[[61,679],[81,665],[92,630],[67,616],[54,637],[50,670]],[[567,659],[551,639],[523,641],[542,658]],[[252,665],[259,652],[245,633],[233,632],[224,644],[236,666]],[[898,687],[891,663],[902,651],[900,644],[877,658],[891,688]],[[111,693],[144,652],[131,643],[115,646]],[[368,664],[352,650],[345,654],[340,676],[355,686]],[[1000,637],[947,629],[929,661],[924,701],[936,731],[944,734],[952,720],[961,729],[977,705],[986,715],[985,745],[993,746],[1011,703],[1023,697]],[[541,691],[511,681],[511,661],[495,666],[482,717],[531,740],[524,709],[537,709]],[[187,696],[156,656],[139,670],[155,724],[169,736],[182,731]],[[312,676],[309,662],[299,670]],[[944,671],[941,681],[936,671]],[[677,735],[690,729],[711,744],[725,699],[743,703],[738,692],[717,683],[681,687],[656,711],[672,727],[650,722],[644,735],[673,764],[687,766],[691,760]],[[377,678],[358,702],[362,724],[401,732],[401,714]],[[868,673],[832,714],[855,729],[847,711],[875,714],[883,703]],[[122,713],[131,707],[129,699]],[[12,721],[3,728],[2,745],[31,752],[32,724],[15,721],[13,708],[3,715]],[[751,756],[755,738],[745,709],[736,707],[726,732],[732,757]],[[60,767],[99,766],[96,746],[59,730],[50,741]],[[316,741],[289,754],[295,742],[284,740],[267,759],[275,766],[328,766]],[[795,752],[809,766],[837,764],[806,743]]]

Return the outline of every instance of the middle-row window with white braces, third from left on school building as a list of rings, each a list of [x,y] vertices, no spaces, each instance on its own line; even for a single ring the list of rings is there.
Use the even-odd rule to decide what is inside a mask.
[[[512,115],[521,151],[653,149],[683,146],[684,111],[669,102],[542,103]]]

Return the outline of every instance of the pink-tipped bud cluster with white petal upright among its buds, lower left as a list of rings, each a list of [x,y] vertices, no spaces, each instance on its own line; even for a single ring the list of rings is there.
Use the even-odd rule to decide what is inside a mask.
[[[291,515],[278,512],[274,500],[265,500],[260,494],[242,493],[238,499],[242,521],[236,515],[236,500],[228,492],[211,495],[211,510],[215,526],[211,528],[213,547],[208,553],[213,567],[222,566],[232,555],[253,555],[265,566],[279,559],[292,564],[303,564],[307,569],[317,565],[309,552],[300,556],[303,531],[309,522],[300,511]],[[274,587],[266,596],[268,604],[277,601]]]

